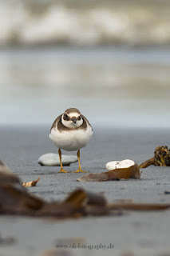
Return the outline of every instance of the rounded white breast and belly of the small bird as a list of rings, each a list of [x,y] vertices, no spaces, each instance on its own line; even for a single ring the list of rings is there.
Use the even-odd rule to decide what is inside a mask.
[[[80,150],[82,147],[86,146],[92,134],[93,131],[89,125],[86,130],[75,129],[59,131],[57,127],[53,127],[49,138],[61,150],[74,151]]]

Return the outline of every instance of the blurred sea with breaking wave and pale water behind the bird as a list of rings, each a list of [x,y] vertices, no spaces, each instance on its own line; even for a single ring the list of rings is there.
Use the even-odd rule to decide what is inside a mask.
[[[0,0],[1,125],[170,127],[170,1]]]

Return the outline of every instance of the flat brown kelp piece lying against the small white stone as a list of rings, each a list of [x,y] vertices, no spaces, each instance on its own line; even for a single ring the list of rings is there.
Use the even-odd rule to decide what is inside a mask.
[[[78,182],[106,182],[112,180],[140,178],[140,169],[137,164],[128,168],[120,168],[105,171],[98,174],[87,174],[81,178],[77,178]]]

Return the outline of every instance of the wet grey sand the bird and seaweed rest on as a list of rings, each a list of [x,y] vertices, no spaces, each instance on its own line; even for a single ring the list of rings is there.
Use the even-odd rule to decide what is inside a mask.
[[[0,156],[24,182],[41,178],[30,188],[34,195],[46,200],[62,200],[78,186],[102,192],[109,202],[132,199],[134,202],[170,202],[170,167],[149,166],[140,180],[119,182],[77,182],[84,174],[59,174],[59,167],[39,166],[38,158],[55,153],[49,140],[49,126],[10,126],[0,128]],[[165,129],[99,129],[89,145],[81,150],[81,166],[90,172],[105,171],[106,162],[130,158],[137,163],[153,156],[156,146],[170,145],[169,130]],[[73,153],[73,152],[71,152]],[[68,154],[64,152],[64,154]],[[74,153],[73,153],[74,154]],[[66,169],[66,168],[65,168]],[[37,170],[37,171],[35,171]],[[67,167],[77,170],[77,163]],[[16,238],[14,246],[1,246],[1,255],[122,255],[131,250],[135,255],[170,254],[170,211],[126,212],[121,216],[80,218],[53,221],[36,218],[1,216],[2,237]],[[112,249],[56,249],[58,239],[73,238],[87,246],[109,246]],[[63,240],[64,241],[64,240]],[[47,254],[46,254],[47,255]],[[52,254],[51,254],[52,255]]]

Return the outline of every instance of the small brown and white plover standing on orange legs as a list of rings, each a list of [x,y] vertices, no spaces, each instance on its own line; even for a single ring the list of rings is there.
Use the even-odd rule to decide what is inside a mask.
[[[77,151],[79,168],[74,172],[84,172],[81,169],[80,149],[87,145],[92,137],[93,128],[87,118],[76,108],[70,108],[59,115],[51,126],[49,138],[58,148],[60,157],[60,172],[68,172],[62,166],[61,150]]]

